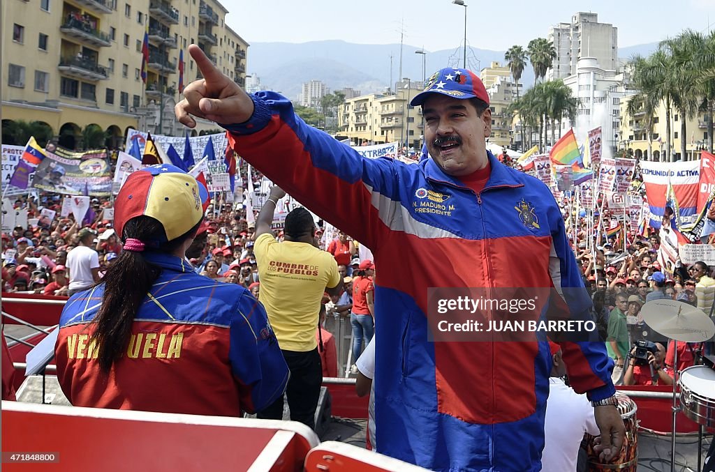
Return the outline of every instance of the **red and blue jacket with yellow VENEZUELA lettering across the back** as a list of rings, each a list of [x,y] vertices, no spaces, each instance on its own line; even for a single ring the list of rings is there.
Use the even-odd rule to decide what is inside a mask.
[[[263,306],[246,288],[194,273],[182,258],[142,253],[162,268],[108,375],[92,320],[104,284],[74,294],[59,323],[57,378],[74,406],[240,416],[283,394],[289,371]]]

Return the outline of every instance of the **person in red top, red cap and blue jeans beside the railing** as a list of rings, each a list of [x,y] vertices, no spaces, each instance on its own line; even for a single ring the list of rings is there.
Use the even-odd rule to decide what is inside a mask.
[[[352,370],[357,371],[355,362],[363,352],[363,339],[368,346],[375,333],[375,266],[367,259],[360,263],[358,276],[352,279]]]

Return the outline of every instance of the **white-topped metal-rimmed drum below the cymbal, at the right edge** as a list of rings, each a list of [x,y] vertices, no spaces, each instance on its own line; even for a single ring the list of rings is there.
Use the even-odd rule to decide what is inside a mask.
[[[708,366],[691,366],[680,373],[680,405],[691,420],[715,427],[715,371]]]

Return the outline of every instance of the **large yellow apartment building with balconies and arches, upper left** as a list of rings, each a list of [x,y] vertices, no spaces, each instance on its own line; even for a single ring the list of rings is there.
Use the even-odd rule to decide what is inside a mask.
[[[129,128],[182,133],[173,106],[181,99],[179,51],[184,86],[197,77],[190,43],[199,44],[238,84],[245,80],[248,44],[225,25],[228,11],[215,0],[9,0],[1,13],[3,124],[47,124],[69,149],[84,148],[82,130],[89,125],[105,132],[111,148],[122,146]],[[194,131],[215,128],[201,121]],[[4,133],[3,142],[11,141]]]

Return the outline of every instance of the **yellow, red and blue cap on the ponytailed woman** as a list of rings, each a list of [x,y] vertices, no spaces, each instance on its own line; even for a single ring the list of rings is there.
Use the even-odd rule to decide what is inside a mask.
[[[176,166],[157,164],[133,172],[117,195],[114,229],[136,216],[150,216],[164,226],[167,241],[186,234],[201,221],[208,191]]]

